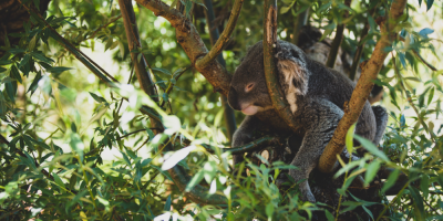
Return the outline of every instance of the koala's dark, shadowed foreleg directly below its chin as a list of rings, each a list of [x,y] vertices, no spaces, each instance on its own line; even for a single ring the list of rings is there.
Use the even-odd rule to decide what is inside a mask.
[[[260,122],[257,117],[250,115],[246,116],[238,129],[234,133],[231,147],[239,147],[241,145],[253,141],[254,131],[259,125]],[[244,160],[244,155],[234,155],[233,158],[235,166]]]

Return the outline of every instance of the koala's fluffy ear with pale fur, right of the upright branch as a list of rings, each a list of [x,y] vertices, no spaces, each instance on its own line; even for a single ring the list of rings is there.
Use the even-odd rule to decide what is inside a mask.
[[[289,92],[306,95],[308,92],[309,71],[301,50],[289,43],[277,46],[277,69],[285,76]]]

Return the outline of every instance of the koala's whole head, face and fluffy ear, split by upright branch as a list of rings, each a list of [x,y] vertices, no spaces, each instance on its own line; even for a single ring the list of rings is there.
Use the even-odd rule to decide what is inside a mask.
[[[296,45],[278,41],[276,62],[280,86],[288,94],[306,95],[308,91],[309,71],[306,55]],[[291,103],[291,101],[288,101]],[[292,101],[295,102],[295,101]],[[262,42],[251,46],[230,82],[229,105],[246,115],[255,115],[272,108],[265,80]]]

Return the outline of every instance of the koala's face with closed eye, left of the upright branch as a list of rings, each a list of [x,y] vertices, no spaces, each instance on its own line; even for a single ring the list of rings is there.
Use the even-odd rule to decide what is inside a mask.
[[[272,108],[265,81],[262,46],[254,45],[235,71],[228,103],[246,115]]]

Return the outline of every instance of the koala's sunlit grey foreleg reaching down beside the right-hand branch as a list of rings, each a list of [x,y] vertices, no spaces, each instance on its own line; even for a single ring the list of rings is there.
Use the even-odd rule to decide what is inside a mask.
[[[316,202],[308,183],[309,173],[317,167],[326,145],[332,138],[333,131],[343,112],[334,104],[326,99],[309,101],[300,108],[298,116],[302,117],[306,126],[306,134],[301,143],[300,150],[297,152],[291,165],[298,167],[289,171],[289,175],[296,180],[303,180],[299,187],[301,199]]]

